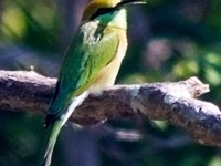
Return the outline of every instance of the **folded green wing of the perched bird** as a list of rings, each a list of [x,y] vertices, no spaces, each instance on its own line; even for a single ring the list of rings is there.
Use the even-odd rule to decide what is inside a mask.
[[[119,39],[114,31],[101,33],[92,29],[85,33],[80,29],[64,59],[48,117],[60,117],[71,100],[93,84],[115,58],[118,44]]]

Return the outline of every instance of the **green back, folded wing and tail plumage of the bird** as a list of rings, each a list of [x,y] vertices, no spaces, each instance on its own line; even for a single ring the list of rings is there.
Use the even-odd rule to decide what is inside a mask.
[[[45,143],[44,162],[50,165],[59,132],[74,108],[82,103],[81,96],[99,76],[102,70],[115,58],[118,35],[97,23],[80,27],[69,51],[57,81],[54,97],[46,116],[49,138]],[[80,97],[80,100],[77,98]],[[74,104],[71,108],[70,105]]]

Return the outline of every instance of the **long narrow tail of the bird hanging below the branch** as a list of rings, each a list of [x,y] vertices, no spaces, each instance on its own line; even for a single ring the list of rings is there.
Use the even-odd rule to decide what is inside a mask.
[[[54,123],[48,126],[46,136],[40,158],[40,166],[50,166],[52,153],[56,143],[57,136],[62,126],[66,123],[73,111],[87,97],[88,93],[84,92],[77,97],[74,97],[71,104],[66,107],[65,112]]]

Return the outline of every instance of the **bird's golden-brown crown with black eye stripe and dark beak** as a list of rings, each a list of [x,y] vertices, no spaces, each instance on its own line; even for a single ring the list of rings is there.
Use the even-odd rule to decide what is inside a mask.
[[[92,0],[84,10],[82,21],[94,20],[118,11],[127,4],[145,3],[144,0]]]

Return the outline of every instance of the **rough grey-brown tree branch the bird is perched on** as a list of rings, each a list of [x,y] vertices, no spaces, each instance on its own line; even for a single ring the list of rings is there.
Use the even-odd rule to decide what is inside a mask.
[[[55,82],[33,71],[0,71],[0,107],[45,113]],[[194,98],[207,92],[209,85],[197,77],[178,83],[115,85],[98,95],[91,94],[71,121],[93,125],[134,115],[167,120],[186,129],[197,142],[221,147],[220,110],[212,103]]]

